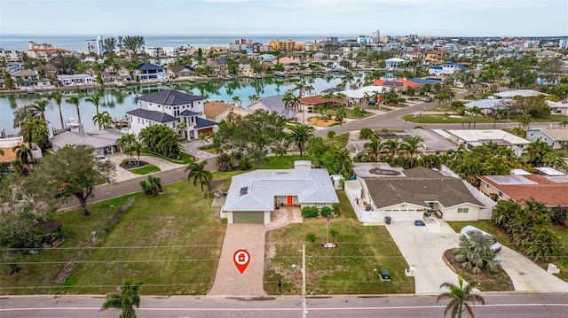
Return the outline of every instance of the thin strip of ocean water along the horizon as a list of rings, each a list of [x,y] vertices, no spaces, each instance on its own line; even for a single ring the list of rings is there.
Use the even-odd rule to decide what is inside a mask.
[[[117,38],[118,35],[102,35]],[[144,36],[144,35],[143,35]],[[296,42],[323,41],[335,35],[148,35],[144,36],[146,47],[201,47],[229,46],[237,39],[251,39],[253,43],[267,43],[272,40],[294,40]],[[0,35],[0,48],[4,50],[28,50],[28,42],[50,43],[54,48],[87,51],[87,40],[97,35]]]

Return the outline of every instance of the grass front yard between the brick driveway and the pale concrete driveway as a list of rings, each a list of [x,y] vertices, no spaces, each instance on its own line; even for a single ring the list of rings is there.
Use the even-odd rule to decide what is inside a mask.
[[[306,294],[390,294],[414,293],[414,277],[406,277],[406,260],[384,227],[364,227],[353,213],[347,198],[339,192],[340,217],[331,220],[338,244],[325,249],[326,220],[308,219],[270,231],[266,237],[264,291],[297,295],[302,288],[302,243],[306,235],[316,235],[306,243]],[[296,271],[292,268],[296,264]],[[382,282],[381,269],[390,270],[392,280]]]

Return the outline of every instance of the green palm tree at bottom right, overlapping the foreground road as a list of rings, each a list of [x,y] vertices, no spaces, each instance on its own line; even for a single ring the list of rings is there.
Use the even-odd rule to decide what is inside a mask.
[[[452,318],[461,318],[461,314],[463,314],[463,312],[467,312],[471,318],[474,318],[473,308],[469,306],[468,301],[473,301],[474,306],[476,301],[485,305],[485,299],[483,299],[483,297],[471,294],[474,285],[472,283],[468,283],[463,286],[463,279],[461,279],[460,276],[458,276],[457,285],[454,285],[453,283],[442,283],[440,288],[447,288],[450,290],[438,295],[438,299],[436,299],[437,304],[440,299],[451,299],[446,306],[446,310],[444,310],[445,317],[447,312],[451,311]]]

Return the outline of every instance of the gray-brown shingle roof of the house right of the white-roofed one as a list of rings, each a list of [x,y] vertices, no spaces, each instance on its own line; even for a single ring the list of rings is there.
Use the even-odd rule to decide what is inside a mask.
[[[461,179],[424,167],[405,170],[404,173],[406,177],[365,178],[369,194],[378,208],[401,203],[428,208],[427,201],[438,201],[446,208],[464,203],[483,206]]]

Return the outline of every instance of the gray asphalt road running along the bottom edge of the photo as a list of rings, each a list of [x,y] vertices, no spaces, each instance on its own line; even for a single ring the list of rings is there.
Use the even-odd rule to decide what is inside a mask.
[[[564,318],[566,293],[482,294],[485,305],[476,305],[476,317]],[[99,312],[102,296],[34,296],[0,299],[0,316],[116,317],[118,310]],[[323,297],[307,299],[307,317],[443,317],[446,300],[436,296]],[[143,297],[138,317],[300,317],[301,299],[225,299],[196,297]]]

